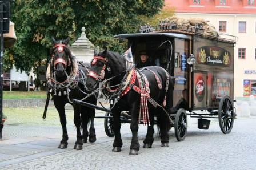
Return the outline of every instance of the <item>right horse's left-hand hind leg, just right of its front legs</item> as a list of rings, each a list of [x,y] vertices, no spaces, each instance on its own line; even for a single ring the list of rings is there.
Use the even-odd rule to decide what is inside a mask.
[[[147,126],[147,135],[145,140],[143,141],[143,148],[152,148],[152,144],[154,142],[154,114],[150,112],[150,125]]]

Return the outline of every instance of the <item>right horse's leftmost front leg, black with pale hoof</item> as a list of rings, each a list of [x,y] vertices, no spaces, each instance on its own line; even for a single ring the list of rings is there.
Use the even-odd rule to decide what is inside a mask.
[[[123,141],[122,141],[121,133],[120,133],[120,128],[121,128],[120,113],[121,113],[121,111],[118,109],[117,105],[111,111],[113,112],[113,131],[115,134],[112,151],[120,152],[122,145],[123,145]]]

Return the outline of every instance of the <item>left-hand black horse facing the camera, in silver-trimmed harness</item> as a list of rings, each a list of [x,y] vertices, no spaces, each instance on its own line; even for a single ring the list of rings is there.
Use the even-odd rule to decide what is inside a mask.
[[[66,115],[65,104],[70,103],[74,108],[74,123],[77,128],[77,141],[75,142],[74,149],[82,149],[83,143],[87,143],[89,136],[90,142],[96,141],[94,129],[95,110],[73,104],[72,99],[84,99],[85,102],[96,104],[97,99],[95,96],[88,96],[85,86],[88,70],[90,69],[89,63],[77,63],[75,57],[72,55],[68,43],[69,38],[61,41],[53,40],[53,50],[51,51],[51,60],[47,68],[47,84],[49,92],[53,96],[53,102],[58,110],[59,118],[62,125],[62,140],[58,148],[67,148],[67,135],[66,128]],[[87,131],[87,124],[90,120],[90,130]],[[83,133],[81,135],[81,127]]]

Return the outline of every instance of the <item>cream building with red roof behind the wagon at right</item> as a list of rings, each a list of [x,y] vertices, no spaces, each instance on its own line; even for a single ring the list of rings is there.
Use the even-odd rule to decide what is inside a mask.
[[[234,97],[256,96],[255,0],[166,0],[182,18],[203,18],[220,33],[238,37],[234,51]]]

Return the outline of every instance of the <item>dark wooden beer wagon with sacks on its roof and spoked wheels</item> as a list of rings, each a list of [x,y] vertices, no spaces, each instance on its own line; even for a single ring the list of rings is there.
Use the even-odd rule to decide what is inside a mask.
[[[238,38],[206,33],[209,31],[202,23],[188,26],[162,21],[158,26],[142,27],[140,33],[115,35],[128,40],[135,64],[139,62],[139,51],[144,50],[151,63],[167,69],[175,78],[170,117],[178,141],[186,137],[187,115],[199,118],[201,129],[209,128],[210,120],[205,118],[218,119],[225,134],[233,128],[234,46]],[[105,118],[105,132],[114,136],[111,112],[97,109],[107,111],[98,118]],[[121,123],[130,123],[129,113],[121,113]]]

